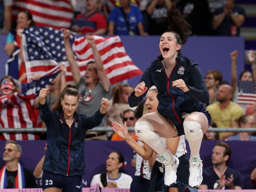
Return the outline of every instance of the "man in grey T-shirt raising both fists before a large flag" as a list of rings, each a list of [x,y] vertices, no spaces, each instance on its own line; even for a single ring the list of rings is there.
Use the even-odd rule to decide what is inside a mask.
[[[86,35],[86,39],[92,47],[93,57],[95,61],[89,61],[85,69],[85,75],[81,74],[80,68],[74,57],[69,37],[71,35],[70,30],[64,30],[63,38],[66,50],[66,57],[69,61],[73,80],[76,84],[76,88],[79,92],[79,105],[78,112],[91,116],[93,112],[99,108],[101,98],[110,98],[111,84],[107,77],[107,73],[104,70],[100,53],[97,50],[95,39]],[[100,126],[107,126],[106,117],[102,119]],[[99,137],[100,136],[100,137]],[[103,139],[107,140],[105,132],[90,132],[87,134],[88,139]]]

